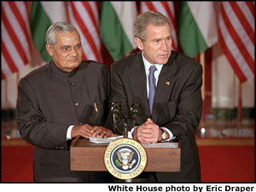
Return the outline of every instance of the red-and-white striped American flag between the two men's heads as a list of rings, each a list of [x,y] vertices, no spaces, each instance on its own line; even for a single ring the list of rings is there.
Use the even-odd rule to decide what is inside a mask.
[[[102,62],[99,35],[99,13],[96,2],[68,2],[67,20],[74,25],[81,37],[83,59]]]

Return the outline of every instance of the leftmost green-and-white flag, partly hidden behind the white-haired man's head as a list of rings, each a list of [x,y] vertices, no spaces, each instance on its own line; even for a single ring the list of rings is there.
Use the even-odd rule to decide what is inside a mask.
[[[57,21],[67,21],[64,2],[33,2],[31,12],[32,39],[44,61],[51,57],[45,49],[45,34]]]

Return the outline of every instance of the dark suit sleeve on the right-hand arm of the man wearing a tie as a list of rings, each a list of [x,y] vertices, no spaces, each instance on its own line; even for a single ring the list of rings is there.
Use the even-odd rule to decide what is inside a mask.
[[[194,135],[201,120],[202,67],[196,65],[189,78],[184,82],[177,101],[172,101],[169,109],[177,104],[176,114],[172,121],[160,127],[169,128],[177,138]]]

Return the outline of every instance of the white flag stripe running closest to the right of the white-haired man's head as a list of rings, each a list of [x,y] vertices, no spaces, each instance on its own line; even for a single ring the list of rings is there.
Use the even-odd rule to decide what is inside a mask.
[[[72,23],[79,31],[80,37],[81,37],[81,42],[82,42],[82,47],[83,47],[83,53],[86,59],[94,59],[96,60],[95,54],[92,52],[92,49],[90,48],[90,44],[87,42],[86,38],[84,37],[83,31],[81,31],[77,21],[73,17],[73,10],[71,6],[68,6],[68,11],[69,11],[69,20],[70,23]]]

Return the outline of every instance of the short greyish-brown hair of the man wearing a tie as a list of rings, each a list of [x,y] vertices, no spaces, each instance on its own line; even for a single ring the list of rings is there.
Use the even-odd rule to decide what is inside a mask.
[[[171,20],[166,17],[164,14],[154,11],[146,11],[143,14],[137,15],[137,18],[133,25],[133,34],[134,37],[139,38],[142,41],[145,41],[147,38],[147,27],[148,25],[170,25],[172,32]]]

